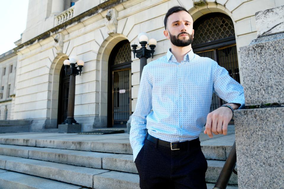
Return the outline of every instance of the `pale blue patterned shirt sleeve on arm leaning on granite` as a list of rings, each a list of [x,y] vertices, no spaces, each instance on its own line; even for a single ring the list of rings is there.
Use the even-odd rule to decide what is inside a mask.
[[[245,105],[243,86],[233,79],[228,71],[219,66],[217,62],[213,63],[213,92],[228,103],[241,104],[238,109]]]

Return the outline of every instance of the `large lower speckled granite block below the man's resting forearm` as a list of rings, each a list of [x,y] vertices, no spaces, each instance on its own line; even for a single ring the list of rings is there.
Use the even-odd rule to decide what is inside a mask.
[[[239,189],[284,185],[284,107],[235,111]]]

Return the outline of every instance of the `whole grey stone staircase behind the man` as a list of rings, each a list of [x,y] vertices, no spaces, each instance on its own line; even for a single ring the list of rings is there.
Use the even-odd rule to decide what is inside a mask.
[[[213,188],[235,140],[234,132],[200,136],[208,162],[207,187]],[[0,188],[136,189],[139,175],[127,133],[0,134]],[[228,189],[237,189],[232,174]]]

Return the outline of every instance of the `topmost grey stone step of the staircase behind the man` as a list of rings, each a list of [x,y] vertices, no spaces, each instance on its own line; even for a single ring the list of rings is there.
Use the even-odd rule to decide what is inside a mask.
[[[48,134],[48,135],[47,135]],[[71,138],[71,139],[70,139]],[[225,160],[228,157],[231,146],[235,141],[235,135],[214,135],[213,139],[201,135],[201,147],[206,159]],[[71,149],[80,151],[96,151],[106,153],[132,154],[132,148],[127,133],[109,134],[104,136],[38,133],[1,135],[0,144],[36,146],[57,149]]]

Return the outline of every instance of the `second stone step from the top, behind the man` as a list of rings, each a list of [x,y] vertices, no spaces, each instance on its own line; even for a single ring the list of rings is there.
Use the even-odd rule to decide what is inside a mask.
[[[3,144],[0,144],[0,154],[104,170],[138,173],[131,154],[111,154]],[[208,182],[216,182],[225,161],[207,160],[207,162],[206,180]],[[230,184],[237,184],[236,175],[232,175]]]

